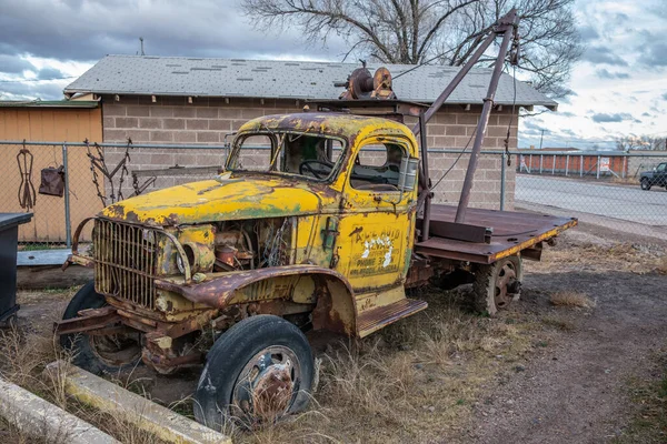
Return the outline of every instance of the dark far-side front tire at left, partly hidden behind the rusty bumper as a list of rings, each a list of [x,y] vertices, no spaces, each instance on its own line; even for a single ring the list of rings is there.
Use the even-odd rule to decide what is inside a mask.
[[[107,305],[104,296],[94,291],[94,283],[91,281],[83,285],[81,290],[77,292],[74,297],[72,297],[62,319],[73,319],[78,316],[78,313],[81,310],[101,309],[104,305]],[[74,365],[97,375],[102,373],[119,373],[141,364],[141,355],[120,365],[112,365],[103,361],[94,351],[90,336],[84,333],[64,334],[60,336],[60,345],[62,349],[73,354],[72,363]]]

